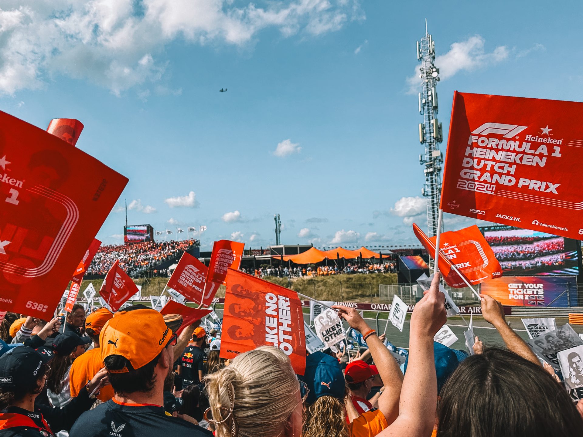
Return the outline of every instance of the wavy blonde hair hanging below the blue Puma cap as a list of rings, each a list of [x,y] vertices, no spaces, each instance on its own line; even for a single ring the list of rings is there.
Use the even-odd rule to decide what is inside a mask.
[[[301,432],[302,437],[348,437],[343,401],[333,396],[321,396],[308,406]]]

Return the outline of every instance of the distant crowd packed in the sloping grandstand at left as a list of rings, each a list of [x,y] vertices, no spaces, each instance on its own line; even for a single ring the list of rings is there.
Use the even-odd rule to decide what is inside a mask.
[[[115,260],[129,276],[135,277],[168,258],[181,255],[196,244],[194,239],[182,241],[143,242],[131,245],[101,246],[86,274],[107,274]]]

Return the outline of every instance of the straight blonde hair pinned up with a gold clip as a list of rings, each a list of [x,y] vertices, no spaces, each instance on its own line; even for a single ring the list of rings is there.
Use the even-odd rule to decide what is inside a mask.
[[[300,389],[287,355],[271,346],[238,355],[205,383],[216,437],[282,434]]]

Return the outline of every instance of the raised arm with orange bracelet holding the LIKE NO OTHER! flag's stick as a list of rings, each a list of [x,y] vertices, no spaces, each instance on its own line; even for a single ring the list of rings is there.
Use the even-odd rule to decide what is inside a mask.
[[[334,305],[332,308],[338,309],[338,315],[363,336],[366,336],[369,332],[374,332],[361,318],[356,309],[342,305]],[[387,423],[391,424],[399,415],[399,396],[401,395],[403,373],[395,358],[387,347],[382,344],[376,333],[369,335],[365,341],[371,357],[373,357],[374,364],[377,365],[382,383],[385,385],[385,391],[378,398],[378,409],[387,419]]]

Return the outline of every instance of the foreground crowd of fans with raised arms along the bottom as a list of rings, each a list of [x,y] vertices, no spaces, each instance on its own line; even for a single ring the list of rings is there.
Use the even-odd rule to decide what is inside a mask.
[[[48,321],[6,313],[0,436],[582,435],[583,405],[499,302],[484,295],[482,314],[505,347],[476,337],[470,354],[433,340],[444,301],[436,276],[413,309],[400,365],[356,309],[333,306],[366,347],[308,354],[304,375],[272,346],[223,360],[220,323],[182,326],[182,316],[143,305],[86,314],[76,304]],[[583,371],[577,357],[574,372]]]

